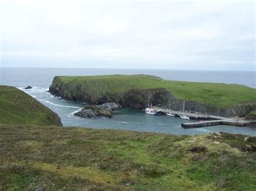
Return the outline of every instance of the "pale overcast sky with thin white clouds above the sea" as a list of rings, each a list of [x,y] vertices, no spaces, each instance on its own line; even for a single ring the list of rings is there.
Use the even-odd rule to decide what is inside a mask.
[[[255,71],[254,1],[0,0],[1,67]]]

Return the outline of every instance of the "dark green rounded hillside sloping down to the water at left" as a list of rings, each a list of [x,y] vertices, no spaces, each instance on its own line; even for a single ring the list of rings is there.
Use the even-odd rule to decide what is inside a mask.
[[[0,86],[0,124],[62,125],[53,111],[10,86]]]

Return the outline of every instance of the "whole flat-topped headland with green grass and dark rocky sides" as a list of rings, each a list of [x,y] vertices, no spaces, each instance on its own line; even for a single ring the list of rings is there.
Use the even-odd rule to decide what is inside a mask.
[[[153,104],[220,116],[245,115],[256,109],[256,89],[237,84],[168,81],[148,75],[56,76],[50,93],[89,104],[117,102],[123,107]]]

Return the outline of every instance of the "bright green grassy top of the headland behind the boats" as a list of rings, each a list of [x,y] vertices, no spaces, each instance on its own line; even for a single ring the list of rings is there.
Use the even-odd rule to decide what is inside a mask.
[[[82,84],[95,96],[104,92],[122,93],[133,88],[165,88],[177,98],[221,108],[256,100],[256,89],[237,84],[169,81],[141,75],[59,76],[59,79],[65,84]]]

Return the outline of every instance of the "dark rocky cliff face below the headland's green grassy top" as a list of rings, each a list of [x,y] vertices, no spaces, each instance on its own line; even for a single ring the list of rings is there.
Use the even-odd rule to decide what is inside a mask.
[[[92,95],[79,85],[69,86],[69,84],[63,84],[63,82],[56,77],[53,80],[49,91],[51,94],[63,97],[66,100],[83,101],[89,104],[97,105],[106,102],[116,102],[122,105],[122,107],[137,109],[144,109],[146,107],[149,96],[153,105],[161,104],[164,107],[168,107],[169,102],[171,102],[172,110],[180,110],[184,101],[177,99],[173,96],[171,91],[163,88],[130,89],[119,94],[104,93],[101,95]],[[219,115],[224,117],[246,115],[251,110],[256,109],[256,102],[238,104],[232,108],[217,108],[214,105],[206,105],[188,100],[186,100],[185,103],[185,110],[187,111],[197,111],[203,114],[207,113],[210,115]]]

